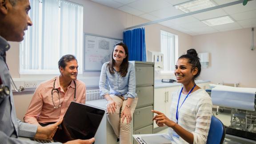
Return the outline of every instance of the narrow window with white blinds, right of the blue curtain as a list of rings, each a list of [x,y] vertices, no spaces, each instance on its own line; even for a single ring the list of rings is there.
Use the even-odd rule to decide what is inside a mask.
[[[161,31],[161,53],[164,54],[164,71],[170,73],[175,69],[178,58],[178,36],[169,32]]]

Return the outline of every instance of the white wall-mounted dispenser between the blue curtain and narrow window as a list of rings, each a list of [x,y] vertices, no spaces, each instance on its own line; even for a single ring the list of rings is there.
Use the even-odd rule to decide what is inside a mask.
[[[155,51],[148,51],[148,61],[155,63],[155,70],[164,70],[164,54]]]

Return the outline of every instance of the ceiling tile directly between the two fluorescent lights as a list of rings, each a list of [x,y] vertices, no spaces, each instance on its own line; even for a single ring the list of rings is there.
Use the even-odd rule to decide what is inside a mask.
[[[222,9],[215,9],[212,11],[197,13],[192,16],[196,17],[198,20],[207,20],[207,19],[226,16],[226,15],[227,13],[224,12]]]

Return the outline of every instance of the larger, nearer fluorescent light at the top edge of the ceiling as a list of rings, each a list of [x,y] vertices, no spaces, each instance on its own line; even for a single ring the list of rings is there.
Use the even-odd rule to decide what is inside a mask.
[[[190,0],[185,3],[173,5],[175,8],[183,12],[195,12],[205,8],[211,8],[216,6],[211,0]]]

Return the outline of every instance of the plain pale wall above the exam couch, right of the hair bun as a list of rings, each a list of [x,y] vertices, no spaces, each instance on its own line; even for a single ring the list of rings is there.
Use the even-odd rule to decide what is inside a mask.
[[[252,51],[251,45],[251,28],[192,36],[193,48],[210,52],[210,66],[202,69],[200,78],[214,84],[239,82],[241,87],[256,88],[256,49]]]

